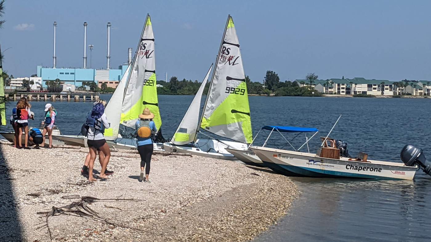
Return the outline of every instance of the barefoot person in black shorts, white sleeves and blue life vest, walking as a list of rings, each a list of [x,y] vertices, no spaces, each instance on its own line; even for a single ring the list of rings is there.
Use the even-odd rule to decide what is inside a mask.
[[[106,102],[104,102],[106,105]],[[109,128],[108,119],[105,115],[105,106],[103,103],[97,103],[93,106],[91,112],[87,115],[87,145],[90,152],[90,161],[88,162],[88,181],[96,181],[93,177],[94,161],[96,160],[97,151],[100,150],[103,155],[102,169],[100,170],[100,178],[108,178],[106,175],[106,166],[109,163],[111,152],[109,151],[108,143],[106,143],[103,133]]]

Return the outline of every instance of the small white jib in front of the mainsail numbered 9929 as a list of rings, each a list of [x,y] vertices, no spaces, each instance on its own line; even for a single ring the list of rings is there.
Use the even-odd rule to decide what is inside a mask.
[[[205,78],[203,78],[202,84],[200,84],[199,90],[197,90],[196,95],[186,114],[181,120],[180,125],[178,125],[177,131],[174,133],[171,142],[175,145],[185,145],[194,141],[197,130],[199,129],[199,110],[200,110],[200,100],[202,99],[203,89],[205,89],[205,84],[208,81],[209,73],[212,70],[212,64],[206,73]]]

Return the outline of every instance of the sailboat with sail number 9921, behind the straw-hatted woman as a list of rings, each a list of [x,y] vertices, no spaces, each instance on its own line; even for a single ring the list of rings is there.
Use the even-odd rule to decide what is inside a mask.
[[[109,146],[116,149],[137,149],[133,133],[137,117],[145,108],[149,108],[154,114],[153,121],[160,137],[162,120],[157,100],[154,35],[149,14],[134,59],[106,105],[109,128],[105,130],[104,137]],[[53,135],[53,139],[68,145],[87,145],[87,138],[83,136]],[[165,141],[162,137],[160,140]],[[154,150],[162,151],[163,143],[154,143]]]

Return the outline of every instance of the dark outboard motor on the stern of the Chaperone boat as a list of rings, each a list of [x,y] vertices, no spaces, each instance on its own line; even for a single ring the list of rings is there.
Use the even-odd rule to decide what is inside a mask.
[[[422,149],[413,145],[405,145],[401,150],[400,158],[407,166],[418,165],[422,171],[431,176],[431,162],[426,160]]]

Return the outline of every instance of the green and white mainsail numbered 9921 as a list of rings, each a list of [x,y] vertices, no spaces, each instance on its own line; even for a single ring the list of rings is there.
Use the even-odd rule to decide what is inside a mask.
[[[134,129],[138,115],[145,108],[154,114],[154,123],[159,130],[162,125],[156,87],[156,61],[154,35],[150,15],[147,15],[144,30],[132,62],[126,85],[120,124]]]

